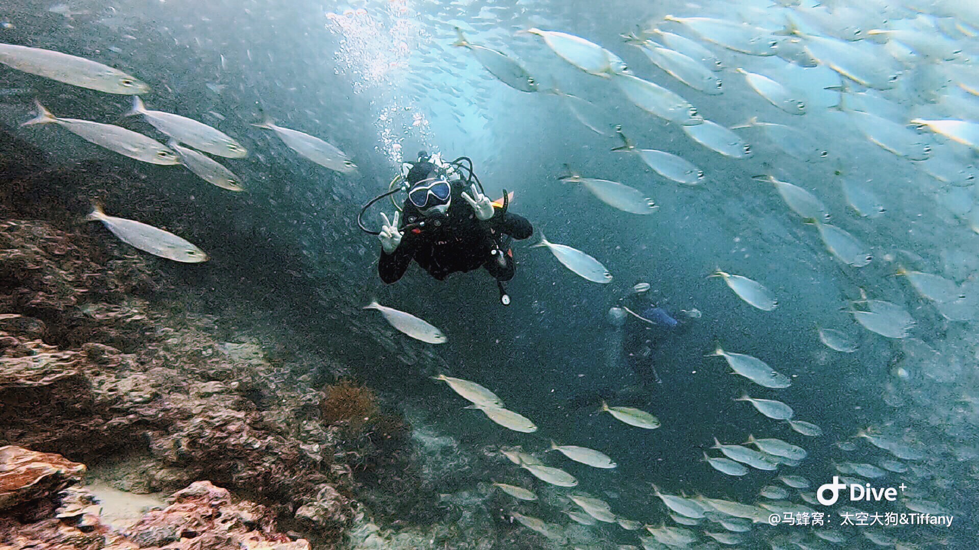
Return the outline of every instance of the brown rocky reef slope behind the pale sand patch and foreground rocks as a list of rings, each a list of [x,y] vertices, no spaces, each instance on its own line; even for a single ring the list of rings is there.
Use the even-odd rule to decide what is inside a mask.
[[[118,176],[46,169],[9,140],[0,132],[0,181],[14,178],[0,185],[0,445],[124,459],[115,484],[134,491],[210,480],[339,539],[356,516],[351,470],[317,421],[317,392],[284,383],[303,367],[270,360],[261,340],[223,342],[216,317],[174,299],[185,266],[90,236],[87,206],[57,187]]]

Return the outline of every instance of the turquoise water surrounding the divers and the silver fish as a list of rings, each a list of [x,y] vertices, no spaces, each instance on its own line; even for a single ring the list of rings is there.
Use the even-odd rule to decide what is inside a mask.
[[[200,266],[207,276],[195,273],[193,266],[171,266],[184,277],[186,292],[206,292],[201,285],[233,279],[231,274],[247,269],[256,284],[256,310],[294,311],[292,320],[303,333],[293,342],[335,357],[385,403],[401,410],[419,434],[421,454],[435,452],[427,436],[454,440],[458,457],[453,460],[458,462],[419,458],[438,465],[431,487],[433,494],[443,494],[444,502],[465,502],[463,508],[480,510],[475,517],[494,518],[500,529],[512,528],[511,511],[572,526],[564,532],[569,540],[565,546],[536,536],[529,538],[533,547],[639,544],[635,532],[616,525],[574,526],[560,513],[574,505],[559,495],[587,493],[607,500],[622,517],[652,527],[676,525],[652,495],[649,482],[671,494],[699,493],[747,504],[758,500],[762,486],[777,484],[777,475],[792,474],[812,481],[811,492],[841,475],[834,463],[876,464],[893,458],[855,437],[872,427],[903,437],[923,458],[906,461],[906,474],[869,482],[904,482],[912,487],[906,497],[912,507],[932,501],[955,516],[953,527],[876,530],[916,545],[911,547],[932,547],[948,539],[950,546],[969,548],[968,541],[976,536],[971,515],[979,472],[976,325],[972,315],[949,320],[907,278],[893,275],[901,266],[941,275],[960,285],[965,297],[960,299],[968,300],[965,309],[976,303],[971,300],[979,300],[979,289],[972,285],[979,270],[979,223],[973,221],[976,200],[969,178],[975,149],[918,128],[914,131],[931,147],[932,158],[909,160],[872,143],[853,125],[852,115],[832,106],[839,103],[837,88],[845,83],[853,92],[845,100],[847,108],[901,124],[911,118],[979,120],[979,99],[968,91],[979,74],[974,61],[979,45],[972,34],[979,21],[967,7],[956,11],[952,2],[841,2],[833,7],[840,15],[819,27],[824,34],[857,23],[904,28],[917,15],[916,8],[929,14],[921,17],[931,18],[931,32],[941,28],[944,39],[961,53],[951,60],[911,55],[895,44],[884,50],[883,39],[868,38],[876,55],[898,56],[888,63],[901,69],[894,87],[874,91],[841,77],[825,60],[806,63],[798,43],[783,33],[769,34],[784,41],[783,55],[759,57],[704,40],[681,23],[660,23],[698,40],[723,61],[725,69],[714,73],[723,80],[723,94],[707,95],[656,68],[620,36],[636,25],[662,22],[668,14],[747,21],[775,30],[792,12],[797,26],[816,25],[812,13],[769,7],[767,2],[734,7],[716,2],[702,8],[639,2],[602,8],[583,2],[127,1],[112,7],[77,2],[70,3],[70,11],[78,12],[70,17],[46,2],[11,2],[0,8],[0,20],[10,23],[0,30],[0,41],[80,55],[138,75],[153,87],[143,95],[151,109],[204,121],[249,149],[247,159],[222,160],[248,190],[233,194],[207,186],[186,170],[136,164],[67,132],[49,131],[54,128],[16,131],[55,162],[104,159],[159,182],[145,197],[107,190],[102,199],[114,215],[166,226],[210,254],[210,261]],[[560,97],[522,93],[493,78],[465,49],[451,47],[453,25],[462,26],[473,43],[519,59],[542,88],[560,86],[592,102],[608,135],[589,130]],[[689,139],[676,123],[636,108],[613,78],[585,74],[539,38],[516,32],[532,26],[601,45],[622,57],[632,73],[681,95],[709,120],[733,126],[759,116],[792,125],[827,156],[795,159],[754,127],[734,130],[752,145],[751,158],[723,157]],[[768,74],[794,88],[806,99],[808,113],[793,116],[777,110],[735,68]],[[56,115],[104,122],[116,121],[129,109],[125,96],[14,70],[0,74],[2,88],[13,90],[0,96],[0,121],[8,126],[29,118],[34,97]],[[357,172],[342,174],[300,158],[273,133],[251,125],[262,114],[338,146],[357,164]],[[657,175],[637,156],[610,152],[621,145],[614,137],[615,124],[640,148],[662,149],[694,162],[705,172],[704,181],[682,186]],[[144,121],[124,125],[159,135]],[[380,247],[375,237],[356,229],[355,217],[361,205],[387,189],[399,163],[413,160],[420,149],[440,152],[446,159],[470,157],[489,197],[495,199],[503,189],[514,191],[511,208],[534,223],[536,237],[514,247],[518,270],[508,285],[511,305],[498,303],[495,286],[482,270],[439,282],[413,266],[395,285],[385,286],[377,278]],[[565,164],[584,176],[634,187],[659,208],[639,216],[606,206],[583,187],[558,181]],[[804,224],[771,184],[753,179],[761,174],[816,195],[831,214],[829,223],[859,239],[872,261],[855,267],[827,252],[815,227]],[[844,178],[876,195],[886,206],[883,215],[861,216],[842,191]],[[89,199],[79,198],[79,205]],[[379,223],[381,209],[393,211],[387,202],[369,211],[366,219],[372,227]],[[613,281],[589,283],[545,249],[530,249],[541,231],[554,243],[598,258]],[[108,232],[104,236],[112,239]],[[751,307],[721,279],[707,277],[717,268],[762,283],[778,306],[773,311]],[[640,282],[651,285],[649,301],[675,315],[680,309],[702,312],[682,332],[653,333],[649,360],[662,384],[638,379],[626,357],[608,358],[621,333],[608,324],[606,312],[629,298]],[[888,339],[857,324],[845,310],[851,300],[861,298],[861,291],[905,308],[915,321],[909,335]],[[220,295],[209,299],[219,301]],[[408,340],[380,315],[360,309],[372,299],[424,318],[443,330],[448,343]],[[635,330],[636,322],[629,318],[628,330]],[[819,342],[818,327],[852,335],[859,349],[830,349]],[[728,375],[722,358],[705,357],[718,345],[766,361],[790,376],[792,386],[771,390]],[[509,408],[533,419],[539,430],[533,435],[506,431],[478,411],[463,410],[464,400],[429,379],[440,373],[493,390]],[[331,378],[316,375],[317,382]],[[823,435],[800,435],[732,400],[745,391],[790,404],[795,419],[815,423]],[[655,414],[662,426],[640,430],[599,413],[599,394],[621,396],[629,401],[623,404]],[[809,456],[797,467],[752,470],[743,478],[724,476],[701,461],[705,451],[721,456],[710,450],[714,437],[741,443],[749,434],[783,438],[806,448]],[[602,471],[557,453],[540,454],[546,464],[579,479],[578,487],[566,490],[534,480],[496,452],[501,445],[522,445],[536,453],[547,448],[549,438],[601,450],[619,466]],[[852,441],[857,450],[842,450],[838,441]],[[451,472],[453,468],[462,474]],[[533,486],[541,499],[521,503],[489,496],[490,481]],[[383,493],[385,487],[374,490]],[[801,502],[795,493],[791,491],[792,500]],[[433,505],[444,508],[440,506]],[[834,518],[833,526],[823,529],[839,529],[851,537],[842,547],[872,544],[862,535],[864,529],[838,525],[839,505],[809,506]],[[904,499],[854,506],[871,514],[913,511]],[[372,512],[384,527],[396,525],[401,513],[382,507]],[[446,518],[436,515],[432,521]],[[700,532],[722,529],[709,522],[688,528],[705,540],[709,538]],[[791,537],[811,547],[828,545],[810,530],[758,525],[743,546],[787,544]],[[459,541],[458,547],[463,542],[476,541]],[[499,544],[494,547],[506,547]]]

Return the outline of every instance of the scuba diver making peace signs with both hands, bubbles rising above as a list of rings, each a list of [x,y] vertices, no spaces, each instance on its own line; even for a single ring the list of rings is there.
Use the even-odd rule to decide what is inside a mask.
[[[529,238],[534,227],[527,218],[507,211],[506,190],[502,203],[494,204],[473,172],[472,160],[460,157],[444,162],[424,151],[416,162],[404,163],[401,175],[389,188],[394,189],[371,200],[357,216],[360,229],[381,241],[378,274],[382,281],[395,283],[412,259],[440,281],[450,273],[482,266],[496,280],[500,301],[510,303],[503,288],[516,269],[510,240]],[[360,220],[364,211],[398,191],[408,196],[402,206],[392,198],[399,211],[390,220],[381,213],[381,231],[364,227]]]

